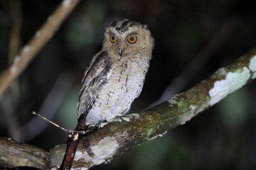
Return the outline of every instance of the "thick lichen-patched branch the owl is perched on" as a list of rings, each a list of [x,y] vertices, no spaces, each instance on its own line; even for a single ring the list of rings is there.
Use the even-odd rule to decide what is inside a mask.
[[[256,78],[256,48],[251,52],[241,56],[228,67],[218,69],[211,77],[205,79],[201,83],[195,85],[191,89],[175,95],[172,99],[156,105],[156,107],[141,113],[141,116],[131,122],[112,122],[104,126],[104,128],[94,132],[90,136],[82,138],[79,142],[77,153],[73,162],[72,169],[90,169],[101,163],[108,163],[115,155],[121,155],[125,151],[133,148],[137,144],[152,140],[158,136],[162,136],[179,124],[185,124],[194,116],[203,110],[210,108],[218,103],[226,95],[240,89],[248,81]],[[9,140],[4,140],[9,142]],[[28,153],[30,150],[36,149],[34,146],[25,148],[24,144],[20,145],[20,154],[15,157],[5,157],[13,151],[11,143],[9,149],[0,149],[0,164],[5,167],[24,166],[24,163],[18,161],[22,157],[20,155]],[[4,144],[3,139],[0,140],[0,146]],[[28,146],[28,145],[25,145]],[[66,145],[55,146],[51,149],[49,157],[45,165],[40,166],[35,163],[27,166],[39,167],[46,166],[48,169],[57,169],[61,165]],[[30,153],[34,157],[34,152]],[[38,151],[38,154],[47,155],[44,151]],[[15,163],[15,164],[14,164]]]

